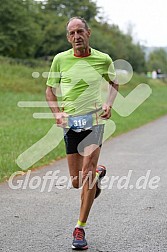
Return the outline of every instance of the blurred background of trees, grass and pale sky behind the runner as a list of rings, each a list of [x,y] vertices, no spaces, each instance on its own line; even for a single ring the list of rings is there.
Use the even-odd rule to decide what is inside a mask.
[[[124,97],[140,83],[152,89],[149,99],[128,117],[113,111],[113,136],[167,114],[165,7],[166,0],[0,0],[0,181],[20,170],[17,157],[53,126],[51,119],[33,118],[34,112],[49,108],[21,108],[18,102],[45,101],[44,73],[55,54],[70,48],[66,23],[72,16],[87,20],[92,47],[133,67],[132,79],[119,89]],[[63,144],[30,168],[64,157]]]

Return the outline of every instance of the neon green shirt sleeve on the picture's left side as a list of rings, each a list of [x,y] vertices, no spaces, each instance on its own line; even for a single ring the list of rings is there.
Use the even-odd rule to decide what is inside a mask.
[[[61,80],[61,74],[60,74],[59,56],[56,55],[52,61],[46,85],[50,87],[59,86],[60,80]]]

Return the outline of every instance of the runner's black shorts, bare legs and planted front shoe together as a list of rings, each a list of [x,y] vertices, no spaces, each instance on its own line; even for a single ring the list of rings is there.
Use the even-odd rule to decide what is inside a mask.
[[[99,145],[101,143],[102,130],[102,127],[94,127],[93,132],[82,132],[80,134],[69,131],[65,135],[67,160],[72,184],[75,188],[83,185],[79,219],[73,232],[73,249],[88,248],[83,227],[86,225],[97,192],[96,168],[100,154]],[[97,144],[92,144],[92,142],[97,142]]]

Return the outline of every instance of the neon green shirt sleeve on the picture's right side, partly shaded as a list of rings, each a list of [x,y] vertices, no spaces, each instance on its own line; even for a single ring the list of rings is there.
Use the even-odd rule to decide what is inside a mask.
[[[103,77],[108,82],[113,81],[116,77],[114,63],[108,54],[106,55],[105,72]]]

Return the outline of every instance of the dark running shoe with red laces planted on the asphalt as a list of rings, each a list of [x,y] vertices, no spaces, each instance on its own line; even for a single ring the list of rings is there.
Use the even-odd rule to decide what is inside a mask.
[[[85,231],[83,228],[75,228],[73,232],[72,249],[85,250],[88,249],[87,241],[85,239]]]

